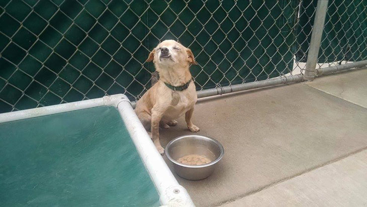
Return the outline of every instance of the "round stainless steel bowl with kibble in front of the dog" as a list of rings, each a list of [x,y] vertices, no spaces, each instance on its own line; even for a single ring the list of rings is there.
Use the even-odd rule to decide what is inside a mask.
[[[216,140],[201,135],[184,135],[172,140],[165,147],[165,154],[173,163],[177,175],[188,180],[201,180],[210,176],[224,155],[223,146]],[[211,162],[204,165],[187,165],[178,162],[181,157],[196,154]]]

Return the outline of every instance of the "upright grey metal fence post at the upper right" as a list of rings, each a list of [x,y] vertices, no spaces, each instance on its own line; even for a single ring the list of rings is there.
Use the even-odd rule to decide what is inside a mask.
[[[311,43],[307,54],[307,62],[304,79],[313,81],[316,74],[317,58],[319,56],[319,49],[321,44],[321,37],[324,30],[324,22],[327,12],[329,0],[318,0],[316,7],[316,14],[314,25],[312,28]]]

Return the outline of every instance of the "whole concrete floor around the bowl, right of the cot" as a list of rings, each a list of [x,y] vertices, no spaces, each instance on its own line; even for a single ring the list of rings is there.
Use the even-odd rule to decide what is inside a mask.
[[[197,206],[367,204],[365,80],[358,70],[200,101],[198,134],[217,139],[225,155],[209,178],[178,182]],[[163,146],[191,133],[178,122],[160,129]]]

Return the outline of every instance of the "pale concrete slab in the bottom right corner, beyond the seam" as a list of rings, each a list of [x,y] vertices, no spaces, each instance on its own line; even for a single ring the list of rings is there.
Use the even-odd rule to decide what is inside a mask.
[[[224,206],[366,206],[366,160],[364,150]]]

